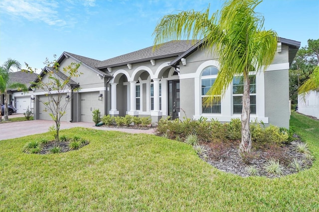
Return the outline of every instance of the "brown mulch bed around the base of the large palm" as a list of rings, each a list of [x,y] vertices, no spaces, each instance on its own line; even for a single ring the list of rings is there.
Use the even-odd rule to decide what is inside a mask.
[[[250,157],[244,158],[246,161],[244,161],[238,153],[240,141],[230,141],[220,144],[201,143],[200,145],[205,149],[205,153],[200,154],[199,157],[221,171],[242,177],[250,176],[247,171],[249,165],[256,167],[259,171],[259,176],[268,178],[281,177],[297,173],[291,165],[291,162],[295,158],[304,161],[304,169],[312,166],[312,160],[308,160],[305,157],[305,154],[296,151],[296,144],[300,142],[302,141],[297,139],[291,144],[286,144],[282,147],[270,147],[268,149],[258,150],[253,149]],[[270,159],[271,157],[279,159],[280,165],[284,168],[282,175],[274,175],[265,171],[264,167],[267,163],[267,159]]]

